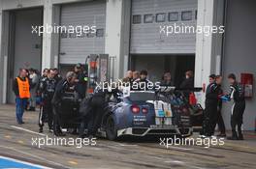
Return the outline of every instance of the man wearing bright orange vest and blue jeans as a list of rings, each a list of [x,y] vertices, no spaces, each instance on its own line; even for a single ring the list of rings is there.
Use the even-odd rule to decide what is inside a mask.
[[[19,75],[14,80],[13,91],[16,94],[16,122],[19,125],[24,124],[22,117],[27,104],[27,99],[30,98],[29,79],[27,72],[24,69],[19,70]]]

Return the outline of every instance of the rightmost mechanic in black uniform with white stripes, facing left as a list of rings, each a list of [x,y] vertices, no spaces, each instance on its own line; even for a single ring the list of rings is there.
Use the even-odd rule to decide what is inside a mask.
[[[229,74],[228,79],[230,83],[230,94],[227,97],[228,99],[234,99],[234,104],[232,107],[232,114],[231,114],[232,136],[228,137],[228,139],[243,140],[243,136],[241,133],[241,125],[242,125],[242,115],[245,110],[244,89],[237,82],[236,75],[234,73]],[[238,132],[236,130],[237,126],[238,126]]]

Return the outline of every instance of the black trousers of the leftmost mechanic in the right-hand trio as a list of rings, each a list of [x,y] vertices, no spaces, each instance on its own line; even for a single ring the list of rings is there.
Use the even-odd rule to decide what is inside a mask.
[[[207,101],[205,109],[205,119],[203,124],[203,132],[210,136],[214,134],[217,122],[217,102]]]

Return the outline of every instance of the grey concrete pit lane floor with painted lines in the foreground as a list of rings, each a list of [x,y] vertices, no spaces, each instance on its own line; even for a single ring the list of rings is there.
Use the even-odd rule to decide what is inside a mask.
[[[38,111],[25,112],[25,124],[16,124],[15,106],[0,106],[0,168],[6,158],[28,162],[49,168],[90,168],[90,169],[130,169],[130,168],[255,168],[256,134],[246,132],[243,141],[224,140],[224,145],[209,146],[171,145],[164,146],[169,137],[158,139],[129,138],[118,142],[97,138],[96,145],[42,146],[32,143],[32,138],[54,138],[48,132],[38,133]],[[64,138],[76,139],[67,134]],[[194,134],[191,139],[199,139]],[[206,139],[205,139],[206,140]],[[223,141],[223,140],[222,140]],[[72,143],[72,142],[71,142]],[[215,143],[214,143],[215,144]],[[5,163],[6,164],[6,163]],[[20,164],[20,167],[22,165]],[[43,167],[44,168],[44,167]]]

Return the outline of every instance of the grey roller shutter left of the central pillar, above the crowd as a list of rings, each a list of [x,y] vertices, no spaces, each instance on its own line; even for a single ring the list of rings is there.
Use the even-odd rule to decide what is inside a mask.
[[[104,53],[106,0],[97,0],[77,4],[63,5],[61,8],[61,26],[68,27],[69,32],[60,37],[60,64],[83,63],[89,54]],[[70,28],[77,27],[73,33]],[[89,32],[82,31],[80,26],[96,26]],[[87,28],[85,28],[87,29]]]

